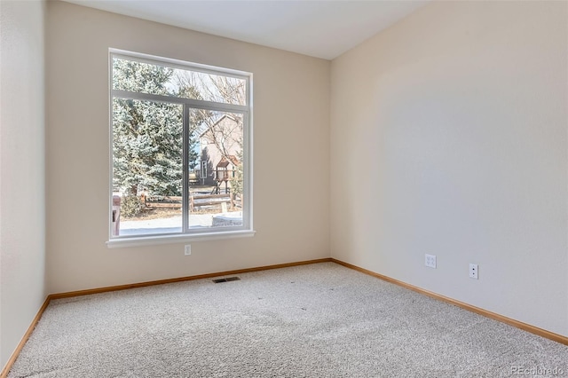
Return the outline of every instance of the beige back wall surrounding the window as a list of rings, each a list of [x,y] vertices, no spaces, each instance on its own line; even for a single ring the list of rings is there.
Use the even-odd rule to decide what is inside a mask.
[[[75,4],[47,15],[50,293],[329,256],[329,61]],[[194,242],[192,256],[106,248],[109,47],[253,73],[256,236]]]

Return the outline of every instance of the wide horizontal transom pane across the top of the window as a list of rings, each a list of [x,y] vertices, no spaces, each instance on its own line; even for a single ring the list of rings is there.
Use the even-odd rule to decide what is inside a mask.
[[[113,58],[113,89],[246,105],[246,80]]]

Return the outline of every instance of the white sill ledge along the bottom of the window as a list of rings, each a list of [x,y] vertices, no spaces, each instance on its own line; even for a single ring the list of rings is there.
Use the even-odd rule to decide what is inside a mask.
[[[245,231],[232,231],[232,232],[193,233],[193,234],[185,233],[177,235],[116,238],[106,241],[106,247],[130,248],[130,247],[155,246],[159,244],[170,244],[170,243],[187,243],[193,241],[248,238],[255,236],[255,233],[256,231],[254,230],[245,230]]]

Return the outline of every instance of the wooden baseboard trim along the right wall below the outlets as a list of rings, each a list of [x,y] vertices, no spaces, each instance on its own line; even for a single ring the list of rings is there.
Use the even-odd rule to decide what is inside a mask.
[[[350,268],[354,271],[358,271],[358,272],[368,274],[369,276],[373,276],[377,279],[393,283],[393,284],[398,285],[400,287],[406,287],[407,289],[413,290],[413,291],[420,293],[420,294],[423,294],[423,295],[428,295],[428,296],[430,296],[434,299],[438,299],[439,301],[454,304],[455,306],[461,307],[464,310],[475,312],[479,315],[485,316],[485,318],[490,318],[490,319],[493,319],[493,320],[501,321],[501,323],[509,324],[509,326],[520,328],[520,329],[522,329],[526,332],[530,332],[531,334],[545,337],[547,339],[555,341],[556,343],[563,343],[564,345],[568,345],[568,337],[566,337],[566,336],[558,335],[558,334],[555,334],[554,332],[547,331],[546,329],[534,327],[534,326],[531,326],[530,324],[523,323],[522,321],[518,321],[516,319],[511,319],[511,318],[508,318],[506,316],[500,315],[498,313],[495,313],[495,312],[492,312],[492,311],[487,311],[487,310],[481,309],[479,307],[473,306],[471,304],[457,301],[457,300],[450,298],[448,296],[439,295],[437,293],[425,290],[421,287],[415,287],[413,285],[407,284],[406,282],[403,282],[403,281],[400,281],[400,280],[395,280],[395,279],[392,279],[388,276],[384,276],[383,274],[375,273],[375,272],[372,272],[372,271],[368,271],[367,269],[360,268],[357,265],[345,263],[345,262],[343,262],[341,260],[337,260],[335,258],[332,258],[331,261],[333,261],[335,264],[343,265],[343,266]]]

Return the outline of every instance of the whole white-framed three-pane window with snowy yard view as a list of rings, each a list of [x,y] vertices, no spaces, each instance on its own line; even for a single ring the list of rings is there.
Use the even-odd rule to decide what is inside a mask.
[[[252,234],[251,74],[110,51],[108,245]]]

